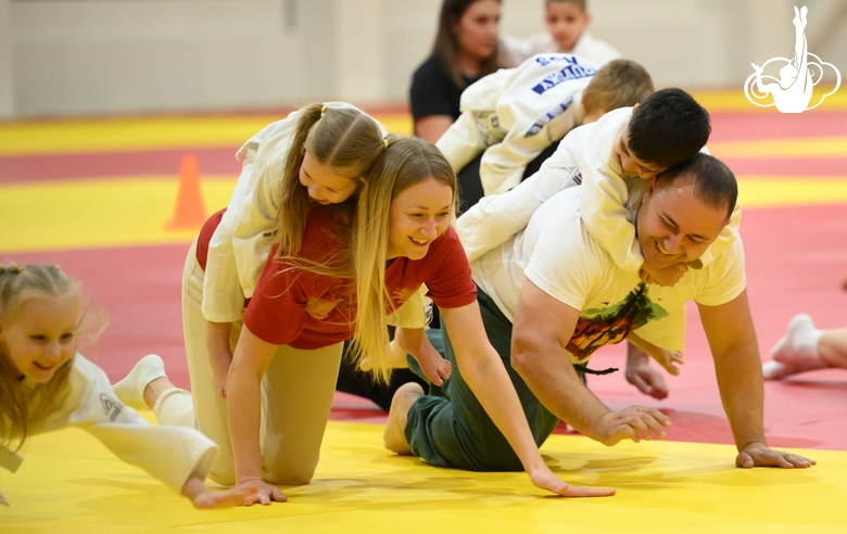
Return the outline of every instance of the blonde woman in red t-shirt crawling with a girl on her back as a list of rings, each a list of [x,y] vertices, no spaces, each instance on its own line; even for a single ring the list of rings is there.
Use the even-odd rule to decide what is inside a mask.
[[[153,407],[160,421],[205,422],[228,450],[215,468],[220,469],[218,478],[213,469],[213,480],[225,483],[226,475],[229,483],[260,485],[256,501],[263,505],[285,500],[275,484],[306,484],[314,474],[332,404],[340,341],[352,336],[354,356],[367,357],[371,372],[388,378],[387,316],[403,304],[401,295],[425,284],[445,328],[463,333],[454,345],[457,366],[532,483],[564,496],[611,495],[610,490],[570,486],[544,463],[507,371],[485,336],[470,267],[450,226],[457,193],[456,175],[435,145],[416,138],[390,141],[368,171],[346,230],[338,228],[332,216],[342,206],[332,212],[315,206],[299,254],[275,250],[268,256],[238,325],[240,332],[232,338],[226,399],[215,394],[208,360],[201,358],[189,360],[193,398],[170,383],[162,360],[152,356],[142,358],[115,390],[127,404]],[[204,249],[205,230],[192,250]],[[197,298],[204,270],[200,263],[205,259],[203,254],[189,256],[186,298]],[[309,297],[320,293],[329,306],[326,319],[317,320],[307,307]],[[187,343],[190,334],[194,345],[205,332],[201,306],[184,305]],[[408,354],[434,352],[422,327],[399,330],[400,345]]]

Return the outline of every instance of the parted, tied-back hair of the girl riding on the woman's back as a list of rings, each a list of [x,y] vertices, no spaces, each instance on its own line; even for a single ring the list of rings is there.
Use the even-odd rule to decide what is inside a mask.
[[[327,107],[314,103],[303,109],[279,182],[276,242],[279,255],[296,254],[306,228],[308,190],[300,185],[300,167],[306,152],[318,164],[362,186],[362,176],[385,150],[379,124],[355,107]]]

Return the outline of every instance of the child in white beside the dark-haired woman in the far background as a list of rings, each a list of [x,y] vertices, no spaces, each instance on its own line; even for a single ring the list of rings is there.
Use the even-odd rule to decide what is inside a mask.
[[[589,33],[591,15],[585,3],[585,0],[545,0],[547,33],[535,34],[527,39],[501,33],[500,64],[517,66],[532,55],[554,52],[579,55],[597,65],[621,58],[622,54],[615,47],[595,39]]]

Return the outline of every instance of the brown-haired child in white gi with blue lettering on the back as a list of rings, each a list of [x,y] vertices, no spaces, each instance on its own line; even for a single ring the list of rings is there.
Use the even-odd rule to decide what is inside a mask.
[[[520,183],[530,162],[570,130],[635,105],[653,91],[649,74],[628,60],[597,69],[577,55],[540,54],[468,87],[462,116],[435,145],[457,173],[482,153],[482,191],[498,194]],[[459,178],[466,201],[475,187]]]

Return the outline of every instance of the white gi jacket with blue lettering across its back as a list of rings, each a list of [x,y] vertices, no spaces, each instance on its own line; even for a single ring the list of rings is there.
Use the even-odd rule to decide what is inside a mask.
[[[527,165],[582,124],[582,91],[599,67],[573,54],[534,55],[462,93],[462,115],[435,145],[455,170],[483,153],[486,195],[520,183]]]

